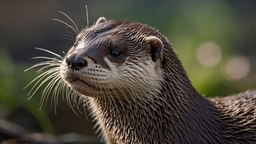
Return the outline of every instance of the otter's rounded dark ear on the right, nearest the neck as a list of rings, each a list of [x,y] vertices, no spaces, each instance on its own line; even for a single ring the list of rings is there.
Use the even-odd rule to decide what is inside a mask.
[[[156,61],[156,59],[162,59],[162,41],[157,37],[149,37],[147,40],[150,43],[150,53],[153,61]]]

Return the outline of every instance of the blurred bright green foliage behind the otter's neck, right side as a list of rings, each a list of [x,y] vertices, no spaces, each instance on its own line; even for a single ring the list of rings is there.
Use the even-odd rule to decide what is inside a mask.
[[[174,49],[182,59],[193,85],[207,95],[227,95],[234,91],[228,85],[222,85],[225,81],[223,82],[220,64],[205,68],[196,62],[195,57],[196,49],[205,41],[219,44],[223,57],[235,46],[239,27],[234,11],[229,5],[224,1],[205,1],[197,4],[190,1],[182,5],[179,16],[172,17],[167,23],[171,23],[171,26],[167,26],[167,35],[170,35]],[[221,62],[224,62],[223,59]]]

